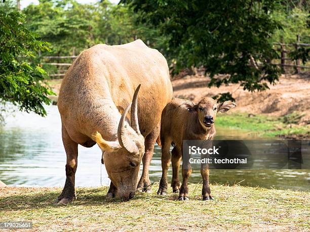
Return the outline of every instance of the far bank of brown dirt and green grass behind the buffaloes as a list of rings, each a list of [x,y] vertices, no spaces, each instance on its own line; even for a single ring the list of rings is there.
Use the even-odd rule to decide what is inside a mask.
[[[237,108],[221,114],[221,119],[217,118],[217,126],[248,130],[255,137],[310,138],[309,72],[282,75],[276,85],[269,85],[269,89],[260,92],[245,91],[240,84],[209,88],[209,81],[209,77],[199,74],[174,77],[173,95],[198,102],[204,97],[230,92]],[[49,84],[58,94],[61,80],[50,80]],[[51,99],[57,103],[57,96]]]

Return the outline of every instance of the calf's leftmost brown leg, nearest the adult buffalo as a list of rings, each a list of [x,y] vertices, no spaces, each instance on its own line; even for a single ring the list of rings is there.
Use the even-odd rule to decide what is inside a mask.
[[[167,181],[167,172],[170,166],[170,138],[163,138],[162,139],[162,178],[160,181],[160,186],[157,191],[158,195],[166,195],[167,188],[168,188],[168,181]]]

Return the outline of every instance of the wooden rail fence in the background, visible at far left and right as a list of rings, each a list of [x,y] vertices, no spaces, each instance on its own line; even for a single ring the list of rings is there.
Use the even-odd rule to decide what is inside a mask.
[[[296,51],[300,47],[310,47],[308,43],[300,43],[299,35],[296,36],[297,40],[296,43],[282,43],[282,42],[275,42],[274,47],[275,50],[280,53],[280,61],[272,61],[272,64],[279,65],[282,67],[283,72],[288,72],[288,68],[293,68],[296,73],[300,73],[301,69],[310,69],[310,66],[300,65],[300,60],[295,62],[292,61],[290,57],[287,55],[290,54],[292,51]],[[74,59],[78,57],[74,54],[74,48],[72,51],[72,56],[47,56],[42,57],[43,61],[49,62],[42,62],[42,65],[48,66],[56,66],[57,71],[55,73],[50,73],[49,76],[51,78],[62,78],[65,75],[65,72],[68,70],[69,66],[73,63]],[[51,61],[57,62],[51,62]],[[66,62],[70,63],[61,63],[61,61],[65,60]],[[280,63],[277,63],[280,62]],[[309,62],[310,63],[310,62]]]

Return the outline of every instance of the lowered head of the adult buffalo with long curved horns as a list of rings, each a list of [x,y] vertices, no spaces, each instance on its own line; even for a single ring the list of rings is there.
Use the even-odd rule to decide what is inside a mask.
[[[140,162],[144,154],[144,137],[140,133],[137,112],[137,95],[124,111],[118,126],[118,141],[105,141],[99,132],[93,134],[93,140],[101,148],[106,171],[116,188],[115,197],[129,200],[136,192]],[[131,106],[132,105],[132,106]],[[131,126],[126,115],[131,106]]]

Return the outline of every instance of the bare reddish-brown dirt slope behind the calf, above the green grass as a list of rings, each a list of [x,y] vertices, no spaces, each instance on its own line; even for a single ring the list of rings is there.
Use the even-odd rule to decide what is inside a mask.
[[[310,124],[310,73],[282,75],[276,85],[261,92],[244,91],[240,84],[207,87],[210,78],[185,76],[172,81],[174,97],[198,101],[223,92],[231,92],[238,107],[234,110],[249,114],[284,116],[299,114],[298,124]]]

